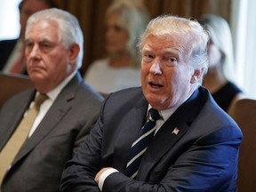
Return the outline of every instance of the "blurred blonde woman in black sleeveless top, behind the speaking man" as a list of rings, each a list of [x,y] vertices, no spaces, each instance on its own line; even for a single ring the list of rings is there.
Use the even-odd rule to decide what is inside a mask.
[[[235,61],[231,31],[228,22],[216,15],[206,14],[201,22],[211,36],[208,45],[210,66],[203,85],[230,114],[236,101],[244,98],[242,90],[233,82]]]

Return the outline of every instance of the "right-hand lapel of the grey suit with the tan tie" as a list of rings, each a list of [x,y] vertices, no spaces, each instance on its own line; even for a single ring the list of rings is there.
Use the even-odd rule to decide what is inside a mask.
[[[78,78],[79,77],[79,78]],[[70,102],[74,100],[76,96],[76,89],[81,82],[81,76],[76,75],[60,92],[57,99],[52,103],[52,107],[44,116],[42,122],[36,128],[36,131],[32,136],[26,140],[19,154],[15,157],[13,164],[17,163],[20,158],[26,156],[29,151],[36,147],[44,138],[52,132],[54,127],[59,124],[60,120],[68,113],[68,110],[72,108]]]

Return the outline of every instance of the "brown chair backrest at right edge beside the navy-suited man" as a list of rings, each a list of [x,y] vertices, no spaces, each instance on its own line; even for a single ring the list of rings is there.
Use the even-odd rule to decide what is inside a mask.
[[[244,140],[240,147],[237,187],[239,192],[251,192],[256,188],[256,100],[236,102],[231,116],[240,126]]]

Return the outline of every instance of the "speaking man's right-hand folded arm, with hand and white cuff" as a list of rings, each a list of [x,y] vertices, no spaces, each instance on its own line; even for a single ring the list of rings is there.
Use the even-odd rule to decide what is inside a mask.
[[[242,134],[238,129],[221,128],[198,139],[188,148],[169,167],[160,183],[132,180],[122,172],[114,172],[104,181],[102,192],[236,191],[234,175],[241,140]],[[230,182],[234,188],[230,188]]]

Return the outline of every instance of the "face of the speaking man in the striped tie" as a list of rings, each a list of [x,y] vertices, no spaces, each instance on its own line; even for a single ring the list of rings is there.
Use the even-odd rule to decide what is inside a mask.
[[[195,90],[194,69],[186,43],[179,38],[148,36],[142,47],[141,84],[153,108],[180,106]]]

